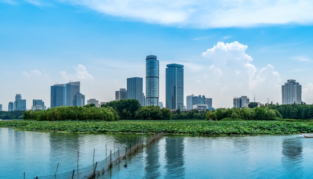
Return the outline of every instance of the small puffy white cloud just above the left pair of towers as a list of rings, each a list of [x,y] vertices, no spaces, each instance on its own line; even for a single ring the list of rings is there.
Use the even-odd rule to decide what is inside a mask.
[[[66,71],[59,71],[62,78],[65,80],[92,80],[93,76],[89,74],[89,72],[86,70],[86,67],[82,64],[78,64],[77,66],[74,66],[75,73],[70,74]]]

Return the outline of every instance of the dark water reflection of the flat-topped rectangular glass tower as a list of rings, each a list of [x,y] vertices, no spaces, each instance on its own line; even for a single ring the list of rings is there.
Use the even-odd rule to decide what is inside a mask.
[[[166,137],[165,141],[165,178],[183,178],[185,175],[183,137]]]

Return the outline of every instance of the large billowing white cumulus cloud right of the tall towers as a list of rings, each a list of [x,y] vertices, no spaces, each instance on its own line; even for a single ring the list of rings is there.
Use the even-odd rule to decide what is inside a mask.
[[[225,101],[232,107],[235,96],[246,95],[252,101],[254,93],[259,102],[267,102],[267,97],[274,102],[280,101],[279,73],[271,64],[257,69],[252,64],[253,58],[245,53],[247,47],[238,41],[219,41],[202,53],[212,63],[207,69],[206,82],[216,107],[222,107]]]

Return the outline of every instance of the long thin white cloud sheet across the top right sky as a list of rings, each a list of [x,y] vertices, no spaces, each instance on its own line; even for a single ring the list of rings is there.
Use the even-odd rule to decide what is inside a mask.
[[[310,0],[61,0],[133,21],[196,28],[313,22]]]

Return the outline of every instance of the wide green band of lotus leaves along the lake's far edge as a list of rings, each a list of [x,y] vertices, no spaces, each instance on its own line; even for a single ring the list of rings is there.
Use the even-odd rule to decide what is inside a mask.
[[[259,135],[313,132],[313,123],[290,121],[120,120],[120,121],[0,121],[18,130],[66,132],[159,132],[184,135]]]

